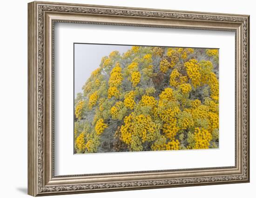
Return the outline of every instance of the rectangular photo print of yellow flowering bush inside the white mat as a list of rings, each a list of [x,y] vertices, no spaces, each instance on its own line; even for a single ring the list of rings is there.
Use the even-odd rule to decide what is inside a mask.
[[[218,49],[74,43],[74,153],[218,147]]]

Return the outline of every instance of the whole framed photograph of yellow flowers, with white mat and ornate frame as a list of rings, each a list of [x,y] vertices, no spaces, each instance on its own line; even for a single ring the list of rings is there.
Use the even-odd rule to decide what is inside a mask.
[[[249,16],[28,4],[28,194],[249,182]]]

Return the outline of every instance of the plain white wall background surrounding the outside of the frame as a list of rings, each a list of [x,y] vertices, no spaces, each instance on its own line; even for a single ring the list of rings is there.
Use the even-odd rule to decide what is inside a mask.
[[[55,1],[55,0],[52,0]],[[256,188],[256,13],[251,0],[61,0],[62,2],[111,6],[148,7],[216,13],[250,14],[250,163],[251,182],[246,184],[208,185],[140,191],[64,195],[61,197],[130,198],[178,197],[216,198],[253,197]],[[0,194],[22,198],[27,195],[27,0],[1,2],[0,11]],[[57,1],[58,2],[58,1]]]

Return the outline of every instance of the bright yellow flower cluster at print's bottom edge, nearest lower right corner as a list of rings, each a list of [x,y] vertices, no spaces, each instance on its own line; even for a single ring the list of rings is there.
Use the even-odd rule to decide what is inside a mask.
[[[202,128],[195,128],[195,146],[193,149],[205,149],[209,148],[210,141],[212,140],[212,135],[209,133],[208,130]]]

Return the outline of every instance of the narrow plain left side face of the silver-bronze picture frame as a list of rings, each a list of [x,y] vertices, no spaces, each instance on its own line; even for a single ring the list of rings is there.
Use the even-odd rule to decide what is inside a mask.
[[[27,4],[27,64],[28,64],[28,92],[27,92],[27,194],[37,195],[37,102],[36,102],[36,4],[30,2]]]

